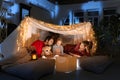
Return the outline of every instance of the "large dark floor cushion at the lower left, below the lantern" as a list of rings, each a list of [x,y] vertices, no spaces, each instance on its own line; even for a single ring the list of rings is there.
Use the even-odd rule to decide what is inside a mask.
[[[25,80],[38,80],[40,77],[54,72],[54,59],[38,59],[28,63],[4,68],[4,71]]]

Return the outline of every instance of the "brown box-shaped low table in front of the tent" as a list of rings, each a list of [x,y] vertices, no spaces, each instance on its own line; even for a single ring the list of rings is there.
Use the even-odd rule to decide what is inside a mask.
[[[77,69],[77,57],[64,55],[56,57],[55,70],[57,72],[72,72]]]

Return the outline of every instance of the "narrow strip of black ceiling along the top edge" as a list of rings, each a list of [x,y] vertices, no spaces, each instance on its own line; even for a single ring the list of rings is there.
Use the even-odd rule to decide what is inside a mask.
[[[48,0],[52,3],[58,3],[59,5],[67,5],[67,4],[77,4],[83,3],[88,1],[106,1],[106,0]]]

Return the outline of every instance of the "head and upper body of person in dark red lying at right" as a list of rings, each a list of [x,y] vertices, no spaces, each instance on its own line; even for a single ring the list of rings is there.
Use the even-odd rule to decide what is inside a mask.
[[[90,49],[92,44],[89,41],[82,41],[74,48],[74,51],[70,53],[73,56],[80,57],[80,56],[90,56]]]

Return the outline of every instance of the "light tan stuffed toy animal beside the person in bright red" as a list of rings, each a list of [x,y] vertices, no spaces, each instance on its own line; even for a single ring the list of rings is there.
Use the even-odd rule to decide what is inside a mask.
[[[42,48],[42,58],[47,58],[52,56],[51,46],[45,46]]]

